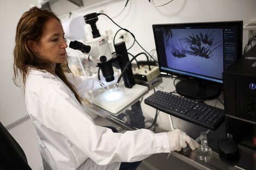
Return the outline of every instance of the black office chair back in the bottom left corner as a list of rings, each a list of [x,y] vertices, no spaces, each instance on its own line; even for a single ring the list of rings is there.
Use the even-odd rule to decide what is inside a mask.
[[[2,170],[32,170],[28,165],[25,153],[19,143],[0,122],[0,169]]]

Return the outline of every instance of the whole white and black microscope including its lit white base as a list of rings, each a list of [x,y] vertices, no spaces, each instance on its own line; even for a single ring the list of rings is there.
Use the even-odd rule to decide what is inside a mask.
[[[132,60],[129,60],[125,42],[115,44],[115,54],[111,54],[108,36],[101,36],[96,27],[96,22],[99,20],[97,16],[97,13],[84,16],[84,21],[90,24],[92,28],[93,39],[88,40],[86,45],[78,41],[71,41],[69,47],[88,54],[88,59],[97,64],[107,82],[114,80],[113,67],[121,70],[125,87],[118,87],[120,75],[117,84],[112,89],[95,97],[92,102],[94,105],[111,112],[111,114],[118,114],[126,106],[138,102],[139,97],[148,92],[148,87],[135,84],[130,63]],[[134,106],[131,110],[135,110]]]

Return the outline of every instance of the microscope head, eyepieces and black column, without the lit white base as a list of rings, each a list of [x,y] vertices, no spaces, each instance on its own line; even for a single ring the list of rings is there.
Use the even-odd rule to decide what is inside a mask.
[[[86,42],[87,45],[84,45],[82,42],[71,41],[69,47],[88,54],[88,59],[97,64],[107,82],[114,80],[113,66],[120,69],[124,72],[123,80],[125,87],[132,88],[135,85],[135,79],[131,65],[124,70],[124,67],[129,63],[125,43],[115,44],[115,54],[112,55],[108,45],[108,35],[101,36],[96,27],[96,22],[99,20],[97,16],[96,12],[84,16],[84,21],[90,24],[92,28],[93,39],[88,40]]]

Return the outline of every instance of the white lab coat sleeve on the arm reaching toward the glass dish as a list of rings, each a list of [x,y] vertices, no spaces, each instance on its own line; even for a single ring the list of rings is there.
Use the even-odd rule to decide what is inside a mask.
[[[139,129],[122,134],[95,125],[64,87],[51,90],[44,101],[47,122],[99,165],[139,161],[151,154],[170,152],[167,133]]]

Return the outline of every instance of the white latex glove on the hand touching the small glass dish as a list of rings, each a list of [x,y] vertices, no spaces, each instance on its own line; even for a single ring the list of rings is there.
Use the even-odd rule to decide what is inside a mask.
[[[181,148],[185,148],[187,146],[187,143],[192,150],[198,148],[198,143],[180,129],[169,131],[167,135],[170,151],[180,151]]]

